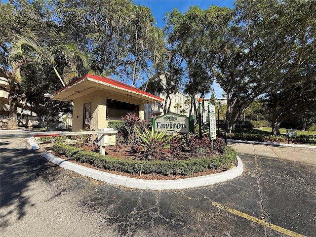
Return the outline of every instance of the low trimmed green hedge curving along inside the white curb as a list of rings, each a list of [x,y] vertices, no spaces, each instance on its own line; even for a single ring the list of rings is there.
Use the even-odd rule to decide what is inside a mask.
[[[191,175],[205,171],[209,168],[226,170],[233,166],[237,160],[237,153],[231,147],[225,147],[224,153],[219,157],[197,158],[186,160],[131,160],[102,156],[99,153],[82,151],[82,149],[63,144],[55,143],[53,151],[60,155],[66,155],[82,163],[89,163],[98,168],[117,170],[125,173],[157,173],[162,175]]]

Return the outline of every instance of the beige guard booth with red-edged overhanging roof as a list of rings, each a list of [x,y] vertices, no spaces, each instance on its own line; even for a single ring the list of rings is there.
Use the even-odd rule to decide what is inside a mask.
[[[122,120],[127,113],[144,118],[144,104],[163,99],[108,77],[85,75],[57,90],[51,99],[73,102],[72,131],[108,127],[109,120]]]

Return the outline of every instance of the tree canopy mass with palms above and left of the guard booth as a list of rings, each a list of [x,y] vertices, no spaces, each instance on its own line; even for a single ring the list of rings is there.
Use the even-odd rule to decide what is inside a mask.
[[[163,65],[163,32],[149,8],[129,0],[10,0],[0,7],[0,64],[12,71],[11,126],[20,100],[40,98],[55,85],[88,72],[136,84]]]

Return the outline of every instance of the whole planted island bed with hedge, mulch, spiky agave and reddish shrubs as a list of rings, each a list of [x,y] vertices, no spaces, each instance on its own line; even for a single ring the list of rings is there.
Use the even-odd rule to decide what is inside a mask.
[[[73,136],[76,140],[55,137],[52,140],[41,138],[41,141],[52,144],[55,155],[71,162],[141,179],[197,177],[237,165],[236,151],[225,146],[219,138],[212,141],[208,136],[199,139],[194,133],[155,132],[153,127],[148,130],[135,115],[127,115],[120,123],[116,122],[115,130],[119,131],[117,145],[105,147],[105,156],[99,153],[97,139],[90,135]]]

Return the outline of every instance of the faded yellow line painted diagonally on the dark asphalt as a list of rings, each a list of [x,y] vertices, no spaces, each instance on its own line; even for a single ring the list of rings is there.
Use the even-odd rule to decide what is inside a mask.
[[[262,226],[268,227],[268,228],[270,228],[270,229],[272,229],[272,230],[275,230],[275,231],[277,231],[277,232],[280,232],[280,233],[282,233],[282,234],[285,234],[285,235],[288,235],[288,236],[291,236],[291,237],[306,237],[306,236],[297,234],[297,233],[295,233],[295,232],[293,232],[293,231],[290,231],[290,230],[284,229],[284,228],[282,228],[282,227],[276,226],[276,225],[274,225],[274,224],[271,224],[271,223],[269,223],[269,222],[263,221],[263,220],[261,220],[261,219],[259,219],[259,218],[250,216],[250,215],[248,215],[248,214],[246,214],[246,213],[237,211],[237,210],[235,210],[235,209],[231,209],[231,208],[229,208],[229,207],[227,207],[227,206],[223,206],[223,205],[221,205],[221,204],[219,204],[219,203],[217,203],[217,202],[215,202],[215,201],[212,201],[212,205],[213,205],[213,206],[216,206],[216,207],[218,207],[218,208],[220,208],[220,209],[222,209],[222,210],[225,210],[225,211],[228,211],[228,212],[230,212],[230,213],[233,213],[233,214],[235,214],[235,215],[237,215],[237,216],[240,216],[240,217],[242,217],[242,218],[245,218],[245,219],[247,219],[247,220],[249,220],[249,221],[252,221],[252,222],[255,222],[255,223],[260,224],[260,225],[262,225]]]

